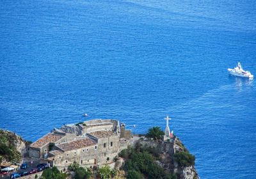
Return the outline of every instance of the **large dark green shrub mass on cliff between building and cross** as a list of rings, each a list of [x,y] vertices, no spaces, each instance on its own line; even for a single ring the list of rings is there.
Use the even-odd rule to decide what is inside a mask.
[[[165,173],[163,168],[156,164],[157,157],[149,153],[148,149],[136,144],[135,148],[128,147],[119,153],[119,156],[125,159],[123,169],[127,172],[127,178],[176,178],[175,175]]]

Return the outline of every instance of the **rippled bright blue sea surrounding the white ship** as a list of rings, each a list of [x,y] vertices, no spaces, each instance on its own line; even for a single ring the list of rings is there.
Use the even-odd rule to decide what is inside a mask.
[[[115,118],[145,133],[168,115],[200,178],[255,178],[256,82],[227,68],[256,75],[256,1],[0,4],[0,128],[35,141]]]

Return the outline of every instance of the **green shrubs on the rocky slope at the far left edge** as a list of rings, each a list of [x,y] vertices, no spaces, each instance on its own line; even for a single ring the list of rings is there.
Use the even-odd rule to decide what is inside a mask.
[[[16,148],[18,140],[23,141],[12,132],[0,130],[0,163],[3,162],[3,160],[20,162],[21,154]]]

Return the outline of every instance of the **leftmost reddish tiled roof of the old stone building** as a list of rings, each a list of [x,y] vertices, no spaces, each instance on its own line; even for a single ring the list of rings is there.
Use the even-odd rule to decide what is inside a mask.
[[[30,146],[35,148],[41,148],[42,146],[45,146],[45,144],[55,143],[56,141],[60,140],[61,137],[63,136],[59,134],[48,133],[44,137],[35,141],[35,143],[32,143]]]

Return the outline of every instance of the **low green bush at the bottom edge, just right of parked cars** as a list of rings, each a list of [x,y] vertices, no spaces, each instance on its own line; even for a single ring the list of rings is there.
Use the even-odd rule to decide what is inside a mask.
[[[65,179],[67,178],[66,173],[59,171],[57,167],[47,168],[40,176],[40,179]]]

